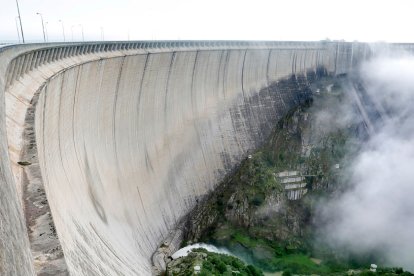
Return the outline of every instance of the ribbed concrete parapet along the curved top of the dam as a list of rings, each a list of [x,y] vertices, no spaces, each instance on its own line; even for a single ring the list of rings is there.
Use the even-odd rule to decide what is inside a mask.
[[[157,52],[221,49],[321,49],[323,42],[278,42],[278,41],[137,41],[137,42],[85,42],[58,46],[45,45],[15,57],[9,64],[5,87],[29,71],[56,60],[79,55],[115,51]]]

